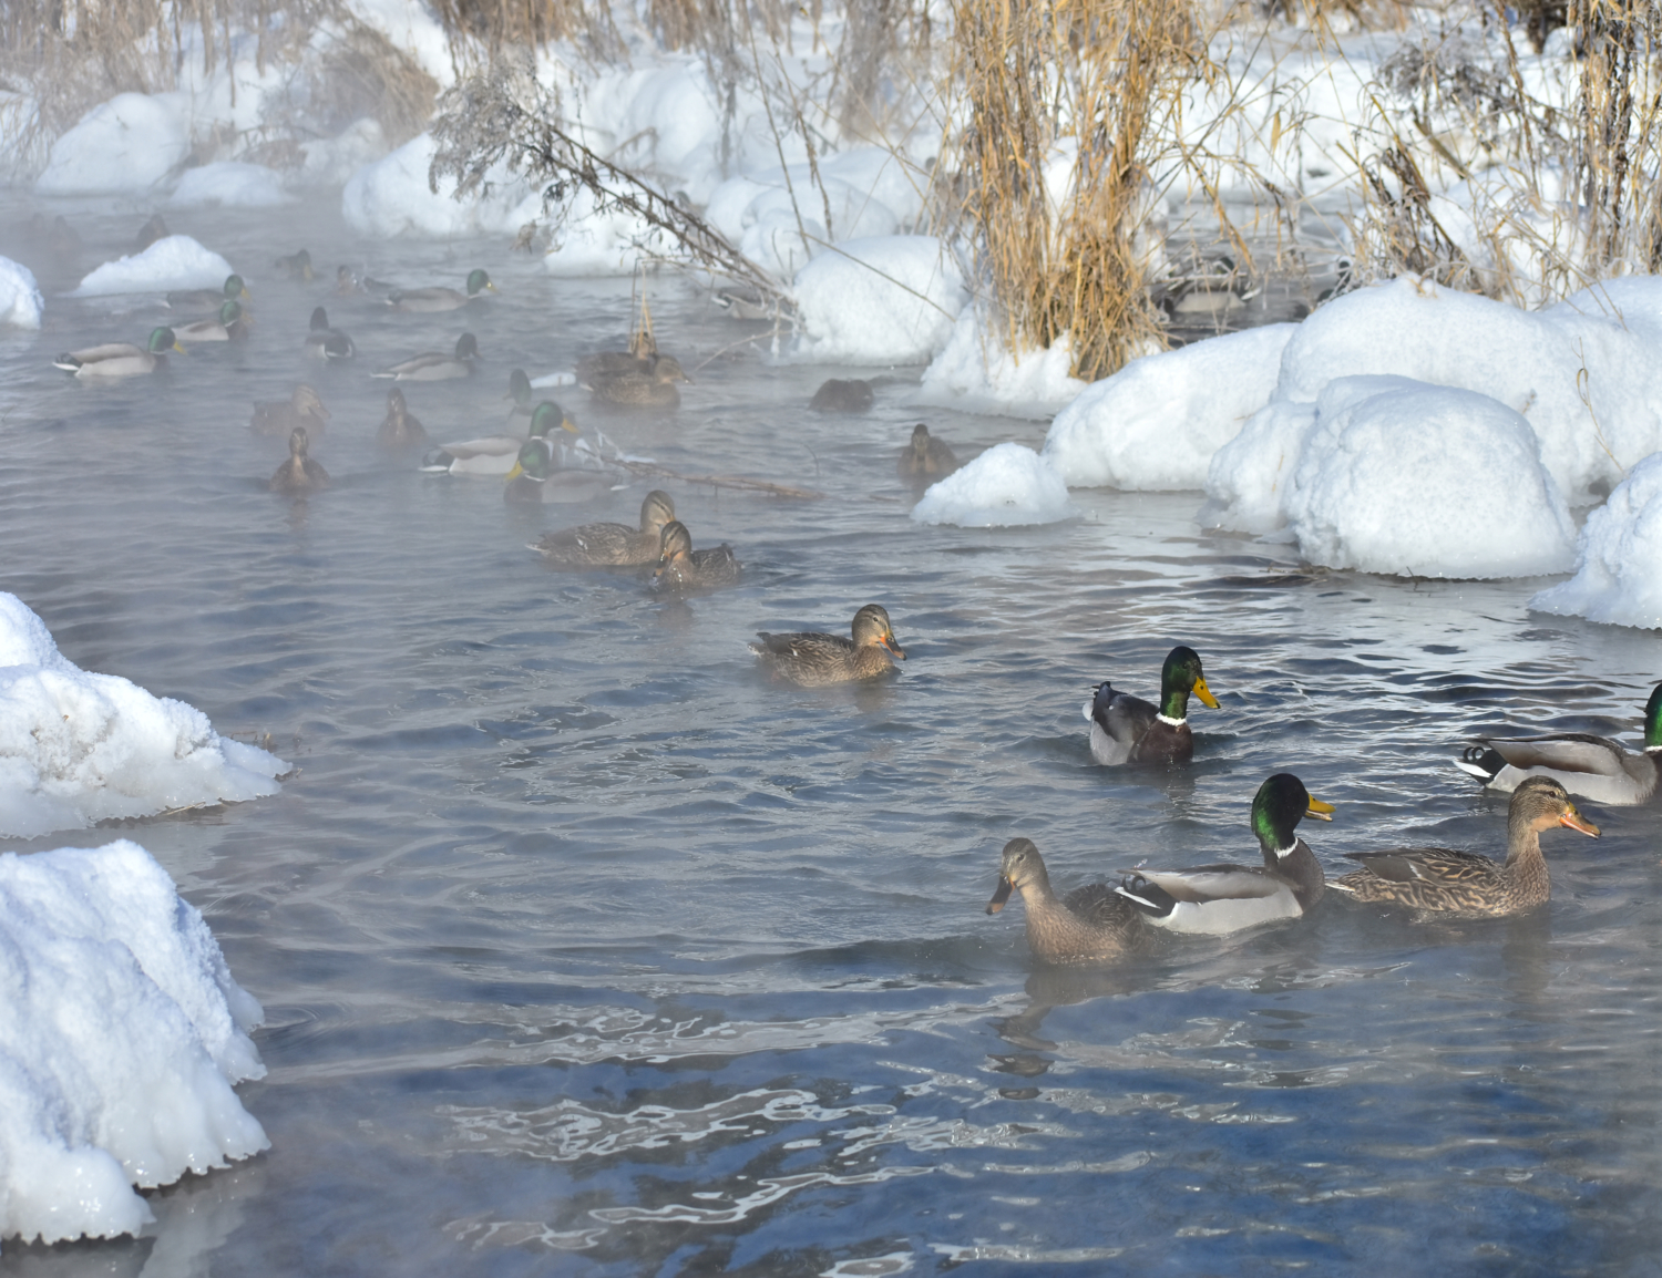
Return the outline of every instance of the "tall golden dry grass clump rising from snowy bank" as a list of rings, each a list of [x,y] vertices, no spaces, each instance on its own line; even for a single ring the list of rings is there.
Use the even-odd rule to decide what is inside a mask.
[[[1102,377],[1160,344],[1138,244],[1148,163],[1205,48],[1183,0],[956,0],[961,201],[1010,351],[1074,342]]]

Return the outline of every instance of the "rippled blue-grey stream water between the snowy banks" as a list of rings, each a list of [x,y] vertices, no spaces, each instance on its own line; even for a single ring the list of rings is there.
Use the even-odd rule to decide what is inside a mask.
[[[27,211],[8,206],[12,223]],[[71,209],[123,251],[148,209]],[[86,670],[271,736],[276,798],[130,823],[266,1007],[244,1085],[269,1153],[151,1197],[140,1240],[8,1245],[28,1275],[1655,1273],[1662,864],[1655,814],[1547,836],[1549,909],[1411,926],[1330,894],[1313,919],[1122,966],[1035,967],[1022,909],[982,912],[1034,838],[1060,887],[1143,858],[1256,859],[1273,771],[1338,804],[1341,853],[1497,854],[1504,801],[1449,766],[1479,730],[1629,740],[1654,635],[1531,617],[1534,582],[1301,572],[1202,535],[1198,494],[1075,492],[1040,528],[917,528],[894,455],[927,419],[961,454],[1044,425],[909,404],[804,410],[779,367],[675,278],[660,342],[696,384],[668,417],[563,391],[588,430],[681,474],[696,545],[745,583],[653,598],[560,575],[543,528],[374,445],[371,367],[450,347],[472,382],[411,389],[437,437],[505,420],[507,371],[628,329],[627,281],[548,279],[499,243],[357,243],[331,211],[170,214],[249,278],[246,347],[80,386],[60,349],[153,312],[53,302],[0,336],[0,588]],[[397,283],[485,266],[504,296],[377,314],[273,276],[306,243]],[[18,256],[22,248],[13,246]],[[0,251],[5,251],[0,246]],[[354,367],[299,357],[317,302]],[[871,371],[881,372],[881,371]],[[264,482],[254,399],[306,376],[334,412],[306,502]],[[881,602],[911,653],[879,686],[793,691],[760,628],[846,632]],[[1195,764],[1092,766],[1092,683],[1207,663]],[[95,843],[86,831],[7,848]]]

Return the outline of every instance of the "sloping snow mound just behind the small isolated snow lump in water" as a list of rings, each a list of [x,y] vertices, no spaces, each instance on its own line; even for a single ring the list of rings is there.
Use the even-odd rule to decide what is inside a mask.
[[[1212,455],[1275,392],[1296,324],[1143,356],[1057,414],[1044,454],[1074,487],[1200,489]]]

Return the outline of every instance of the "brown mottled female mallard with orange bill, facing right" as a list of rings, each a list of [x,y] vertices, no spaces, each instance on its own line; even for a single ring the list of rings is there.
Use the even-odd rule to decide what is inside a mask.
[[[1599,828],[1576,811],[1564,786],[1551,776],[1527,776],[1506,809],[1506,861],[1451,848],[1396,848],[1388,853],[1345,853],[1361,869],[1333,881],[1358,901],[1486,917],[1517,914],[1552,896],[1541,831],[1554,826],[1599,838]]]

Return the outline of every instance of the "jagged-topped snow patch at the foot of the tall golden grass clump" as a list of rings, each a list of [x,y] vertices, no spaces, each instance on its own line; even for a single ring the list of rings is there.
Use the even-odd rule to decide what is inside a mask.
[[[1074,344],[1059,337],[1044,351],[1010,354],[981,306],[966,306],[941,354],[924,369],[919,401],[967,412],[1049,417],[1089,382],[1074,377]]]

